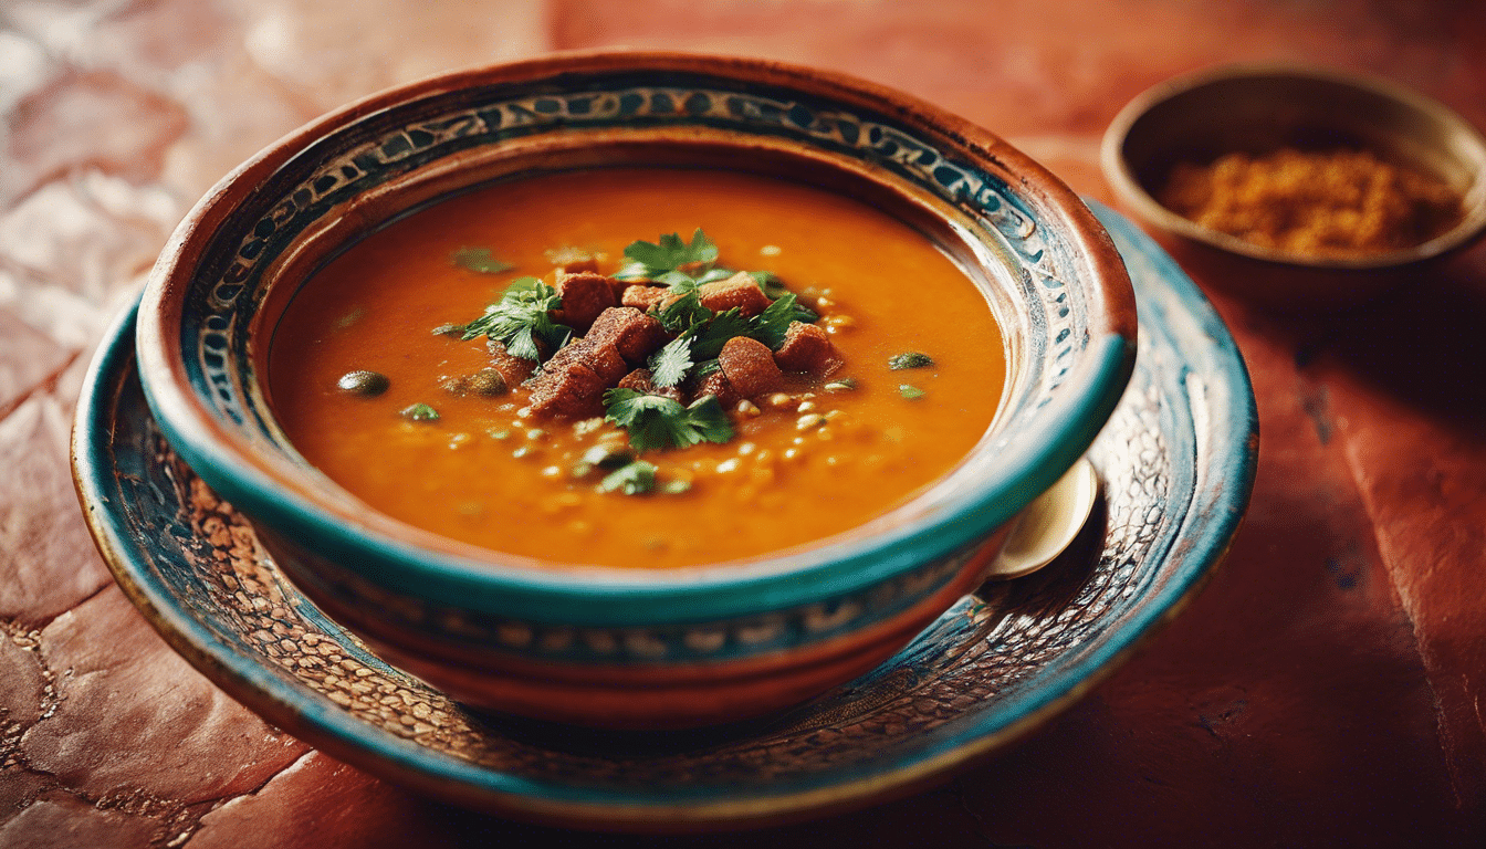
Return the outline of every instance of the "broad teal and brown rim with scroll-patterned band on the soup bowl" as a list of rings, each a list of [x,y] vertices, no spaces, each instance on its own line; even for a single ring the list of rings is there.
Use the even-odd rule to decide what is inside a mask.
[[[395,178],[478,144],[635,125],[798,140],[868,162],[973,213],[985,227],[981,235],[999,239],[1024,263],[1022,294],[1039,311],[1033,323],[1049,335],[1045,349],[1033,352],[1052,360],[1048,373],[1010,401],[1040,407],[1034,437],[1021,433],[1022,439],[996,445],[996,459],[982,459],[975,470],[979,477],[951,474],[953,492],[938,488],[945,494],[932,507],[884,531],[666,574],[542,571],[437,543],[416,529],[392,535],[376,517],[351,523],[351,511],[337,514],[317,503],[314,488],[296,482],[305,470],[245,462],[257,448],[232,430],[233,422],[265,433],[275,427],[244,388],[251,378],[217,364],[248,358],[247,314],[238,311],[262,300],[254,287],[276,251],[367,181]],[[1021,174],[1022,181],[1009,184],[976,158]],[[1028,174],[1043,183],[1034,184]],[[244,192],[248,181],[253,187]],[[1057,226],[1042,217],[1049,214],[1060,216]],[[183,254],[193,242],[205,247]],[[1070,269],[1098,285],[1071,291],[1060,277]],[[175,451],[212,489],[281,538],[312,546],[334,562],[354,562],[367,580],[432,604],[566,624],[673,624],[849,596],[953,556],[1009,520],[1085,452],[1123,391],[1135,351],[1134,303],[1123,280],[1117,254],[1071,190],[994,135],[929,104],[773,62],[559,55],[374,95],[241,167],[187,216],[156,266],[140,309],[138,357],[146,397]],[[1109,324],[1058,329],[1079,317],[1074,309],[1067,318],[1068,297],[1086,299],[1088,311],[1106,311],[1101,320]],[[181,300],[172,306],[171,299]],[[178,311],[178,327],[166,318],[171,309]],[[1073,364],[1058,370],[1062,357]]]

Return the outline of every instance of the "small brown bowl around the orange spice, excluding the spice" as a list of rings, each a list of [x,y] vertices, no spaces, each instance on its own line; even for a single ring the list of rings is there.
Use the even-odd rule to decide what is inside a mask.
[[[1419,245],[1317,257],[1201,226],[1156,201],[1172,165],[1281,147],[1372,150],[1443,180],[1464,216]],[[1269,308],[1314,311],[1364,302],[1416,277],[1486,232],[1486,140],[1440,103],[1388,80],[1331,68],[1242,64],[1167,80],[1110,123],[1104,175],[1120,204],[1156,230],[1198,278]]]

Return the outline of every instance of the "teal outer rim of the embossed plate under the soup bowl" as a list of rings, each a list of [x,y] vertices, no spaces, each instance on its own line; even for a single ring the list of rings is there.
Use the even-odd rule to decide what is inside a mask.
[[[138,559],[138,546],[146,541],[129,538],[120,507],[106,495],[106,476],[111,477],[113,470],[108,461],[113,400],[132,364],[132,345],[128,342],[132,339],[134,309],[116,320],[85,381],[73,433],[79,500],[119,584],[178,653],[229,694],[306,743],[421,791],[525,818],[632,830],[780,822],[860,806],[887,794],[903,794],[1030,732],[1109,677],[1150,636],[1156,624],[1171,619],[1202,586],[1226,550],[1248,501],[1257,458],[1257,413],[1232,336],[1192,281],[1149,236],[1117,213],[1091,205],[1119,244],[1126,263],[1138,265],[1131,271],[1140,294],[1143,336],[1152,320],[1161,321],[1162,333],[1184,333],[1183,340],[1193,348],[1180,357],[1186,369],[1183,376],[1216,379],[1229,396],[1230,409],[1224,418],[1230,425],[1226,428],[1230,439],[1226,445],[1207,446],[1210,468],[1196,468],[1196,459],[1192,461],[1196,477],[1193,498],[1207,507],[1204,520],[1192,520],[1192,510],[1183,517],[1172,540],[1172,549],[1180,541],[1181,550],[1175,578],[1152,593],[1140,616],[1119,624],[1119,639],[1109,639],[1073,660],[1040,687],[1013,690],[1006,699],[1008,709],[987,711],[969,727],[954,729],[953,733],[945,732],[948,723],[939,726],[936,732],[923,735],[924,739],[932,737],[932,745],[890,755],[883,763],[831,767],[762,792],[755,790],[733,795],[716,792],[716,788],[709,795],[707,788],[691,792],[676,788],[617,791],[532,781],[383,732],[324,694],[290,684],[260,657],[236,653],[204,620],[192,616],[180,599],[165,592],[166,587],[152,580],[152,566]],[[1150,290],[1144,291],[1146,287]],[[1168,297],[1164,300],[1161,294]],[[1174,345],[1169,339],[1167,343]],[[1193,367],[1199,364],[1198,358],[1204,360],[1201,364],[1205,369]],[[1190,401],[1189,397],[1189,406]],[[1156,556],[1165,562],[1172,549]]]

